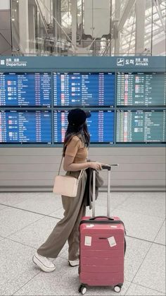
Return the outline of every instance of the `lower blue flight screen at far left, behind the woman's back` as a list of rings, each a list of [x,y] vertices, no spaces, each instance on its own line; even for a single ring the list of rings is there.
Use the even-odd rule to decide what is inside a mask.
[[[0,143],[51,144],[51,112],[0,111]]]

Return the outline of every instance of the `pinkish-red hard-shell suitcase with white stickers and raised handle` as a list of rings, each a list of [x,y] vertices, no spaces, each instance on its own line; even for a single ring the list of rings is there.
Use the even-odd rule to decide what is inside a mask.
[[[95,217],[95,179],[93,172],[92,216],[82,218],[79,226],[79,292],[89,286],[113,286],[120,292],[124,282],[125,227],[120,218],[110,218],[110,169],[108,170],[107,216]]]

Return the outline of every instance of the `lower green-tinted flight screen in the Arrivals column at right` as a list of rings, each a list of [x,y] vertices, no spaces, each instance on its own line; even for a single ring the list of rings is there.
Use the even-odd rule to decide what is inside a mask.
[[[165,110],[117,110],[116,143],[165,143]]]

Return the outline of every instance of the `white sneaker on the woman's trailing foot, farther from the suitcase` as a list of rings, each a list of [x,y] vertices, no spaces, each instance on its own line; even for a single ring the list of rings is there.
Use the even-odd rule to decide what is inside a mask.
[[[37,264],[41,268],[41,271],[45,271],[46,273],[51,273],[51,271],[55,271],[56,269],[56,266],[48,258],[39,255],[37,251],[32,260],[34,264]]]

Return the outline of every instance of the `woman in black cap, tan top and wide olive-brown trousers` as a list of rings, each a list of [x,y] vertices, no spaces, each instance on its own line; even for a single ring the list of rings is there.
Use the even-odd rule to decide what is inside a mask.
[[[82,109],[72,109],[68,113],[68,129],[63,144],[63,169],[72,177],[78,177],[80,170],[84,170],[84,173],[79,180],[77,196],[74,198],[62,196],[64,218],[57,223],[46,242],[37,249],[33,256],[34,264],[45,272],[56,269],[48,257],[56,258],[67,240],[69,244],[68,263],[70,266],[79,265],[79,223],[86,210],[83,201],[87,181],[86,169],[91,167],[94,170],[101,170],[100,162],[87,162],[90,136],[86,119],[89,115],[89,112],[86,113]]]

